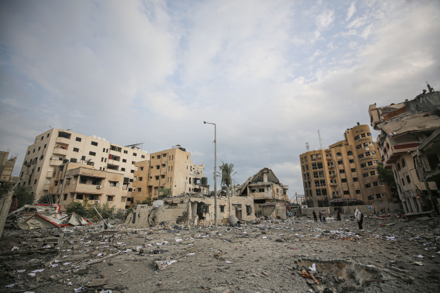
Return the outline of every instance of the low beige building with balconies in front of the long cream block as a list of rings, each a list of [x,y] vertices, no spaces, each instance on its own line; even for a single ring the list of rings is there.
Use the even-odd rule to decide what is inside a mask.
[[[54,168],[48,192],[56,195],[61,210],[74,200],[90,204],[108,203],[124,209],[127,192],[122,189],[123,182],[124,174],[120,171],[101,171],[87,164],[67,162]]]

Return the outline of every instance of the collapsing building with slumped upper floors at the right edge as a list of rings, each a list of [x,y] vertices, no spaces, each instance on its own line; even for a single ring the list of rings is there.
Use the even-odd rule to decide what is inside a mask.
[[[369,115],[371,126],[380,131],[377,136],[380,156],[386,169],[392,169],[397,183],[399,197],[406,213],[421,213],[432,210],[430,191],[436,191],[434,182],[425,183],[417,173],[417,162],[412,153],[436,129],[440,127],[440,92],[428,85],[429,92],[423,91],[413,100],[405,100],[399,104],[377,107],[370,105]],[[437,154],[428,153],[420,166],[432,171],[438,166],[430,161],[438,162]]]

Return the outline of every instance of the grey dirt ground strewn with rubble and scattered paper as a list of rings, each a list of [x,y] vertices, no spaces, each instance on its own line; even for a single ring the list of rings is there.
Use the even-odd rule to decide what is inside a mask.
[[[120,224],[114,242],[92,235],[98,225],[7,230],[15,249],[29,254],[0,256],[0,292],[439,292],[438,219],[366,217],[363,231],[353,219],[327,220],[217,230]],[[73,271],[80,266],[85,274]],[[94,279],[107,284],[87,287]]]

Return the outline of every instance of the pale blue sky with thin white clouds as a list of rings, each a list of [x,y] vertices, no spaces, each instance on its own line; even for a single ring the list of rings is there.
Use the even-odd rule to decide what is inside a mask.
[[[440,1],[0,1],[0,150],[19,175],[55,127],[148,153],[181,144],[268,167],[304,194],[299,156],[368,107],[440,89]],[[373,131],[373,137],[378,133]]]

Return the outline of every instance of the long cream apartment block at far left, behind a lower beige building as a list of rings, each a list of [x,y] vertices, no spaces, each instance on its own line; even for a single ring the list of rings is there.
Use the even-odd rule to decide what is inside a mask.
[[[50,129],[34,139],[28,146],[20,176],[35,163],[29,177],[21,183],[39,198],[49,193],[54,168],[66,162],[85,163],[96,170],[115,171],[124,175],[123,197],[131,202],[135,163],[148,160],[149,155],[137,144],[120,146],[96,135],[87,136],[64,129]]]

